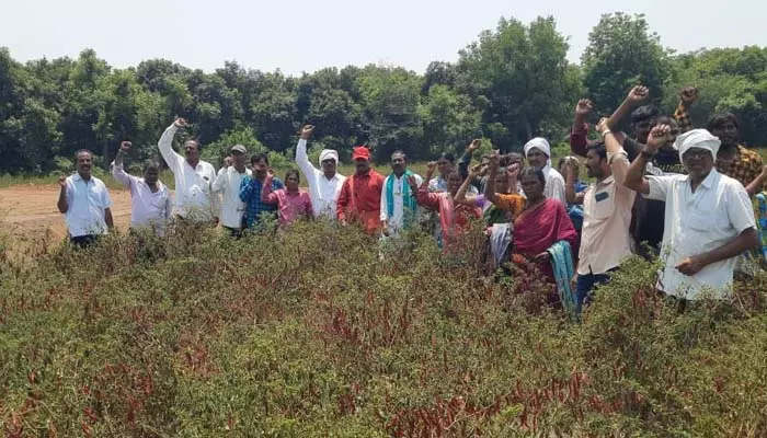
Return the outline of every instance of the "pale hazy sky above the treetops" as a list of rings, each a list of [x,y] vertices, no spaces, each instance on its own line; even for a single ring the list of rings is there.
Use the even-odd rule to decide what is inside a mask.
[[[424,72],[499,19],[553,15],[580,60],[603,13],[644,13],[677,51],[767,45],[764,0],[0,0],[0,46],[20,61],[76,58],[84,48],[117,68],[165,58],[213,71],[224,61],[287,74],[384,64]]]

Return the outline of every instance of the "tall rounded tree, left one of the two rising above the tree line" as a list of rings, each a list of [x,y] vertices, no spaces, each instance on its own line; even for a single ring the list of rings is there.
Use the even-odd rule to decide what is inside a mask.
[[[501,19],[495,31],[484,31],[460,51],[459,89],[483,110],[485,135],[493,143],[518,147],[563,117],[565,102],[577,92],[568,47],[549,16],[529,26]]]

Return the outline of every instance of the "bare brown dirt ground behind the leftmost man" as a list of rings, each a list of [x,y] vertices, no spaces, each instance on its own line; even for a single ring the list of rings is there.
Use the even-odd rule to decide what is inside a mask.
[[[58,212],[57,186],[13,186],[0,188],[0,222],[2,232],[25,238],[50,232],[51,240],[61,240],[67,234],[64,215]],[[130,222],[130,193],[111,189],[112,215],[115,226],[127,229]]]

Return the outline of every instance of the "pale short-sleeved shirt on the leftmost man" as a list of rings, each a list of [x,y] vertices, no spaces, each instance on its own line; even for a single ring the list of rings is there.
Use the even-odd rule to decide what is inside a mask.
[[[67,177],[65,219],[69,235],[106,234],[107,208],[112,208],[112,198],[101,180],[91,176],[85,182],[78,173]]]

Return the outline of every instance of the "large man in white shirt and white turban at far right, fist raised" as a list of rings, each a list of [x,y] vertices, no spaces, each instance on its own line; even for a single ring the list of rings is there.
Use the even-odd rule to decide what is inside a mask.
[[[677,137],[687,175],[643,177],[645,164],[667,140],[668,125],[655,126],[646,147],[631,163],[623,184],[649,199],[665,200],[657,288],[679,299],[702,291],[723,298],[732,284],[735,257],[757,244],[754,211],[743,184],[714,169],[721,141],[706,129]]]

